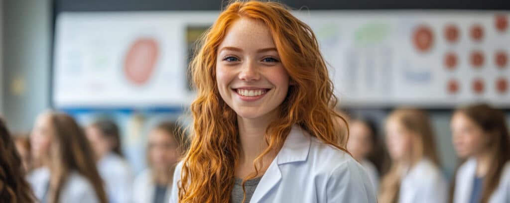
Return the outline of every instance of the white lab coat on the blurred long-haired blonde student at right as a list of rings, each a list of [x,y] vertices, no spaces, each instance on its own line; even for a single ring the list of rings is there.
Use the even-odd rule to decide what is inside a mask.
[[[400,183],[400,203],[448,201],[448,186],[438,166],[422,159],[406,171]]]

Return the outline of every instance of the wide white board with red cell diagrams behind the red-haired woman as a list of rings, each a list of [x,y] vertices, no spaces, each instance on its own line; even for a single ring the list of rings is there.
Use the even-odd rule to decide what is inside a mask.
[[[314,30],[335,93],[345,106],[453,107],[481,101],[510,107],[507,11],[294,13]],[[59,14],[54,104],[189,105],[194,93],[185,77],[186,37],[190,26],[207,27],[217,15]],[[138,51],[149,58],[137,62],[142,65],[126,60],[132,58],[127,56],[135,56],[136,50],[146,50]],[[506,62],[500,65],[502,61]],[[128,70],[137,66],[150,68],[142,73],[133,68],[130,78]],[[149,73],[144,72],[147,69]]]

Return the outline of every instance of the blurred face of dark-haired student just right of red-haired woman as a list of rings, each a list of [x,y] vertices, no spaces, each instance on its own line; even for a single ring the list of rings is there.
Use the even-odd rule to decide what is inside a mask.
[[[349,130],[347,150],[349,150],[354,159],[365,159],[373,148],[370,129],[364,122],[354,121],[350,123]]]

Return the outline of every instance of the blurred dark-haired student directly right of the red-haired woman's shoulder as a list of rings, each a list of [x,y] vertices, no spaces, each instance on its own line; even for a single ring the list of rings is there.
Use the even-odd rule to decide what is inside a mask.
[[[369,160],[373,157],[372,154],[378,143],[376,125],[372,120],[355,118],[349,123],[349,132],[347,150],[365,168],[374,185],[374,191],[378,191],[379,172],[374,162]]]

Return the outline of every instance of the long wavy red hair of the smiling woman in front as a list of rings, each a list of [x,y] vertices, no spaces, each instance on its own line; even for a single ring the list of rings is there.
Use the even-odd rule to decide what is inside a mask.
[[[335,111],[337,97],[312,29],[282,4],[236,1],[202,36],[190,63],[197,98],[190,107],[194,120],[191,145],[177,184],[180,202],[230,202],[240,144],[236,112],[222,100],[216,84],[216,57],[228,28],[240,18],[260,20],[269,27],[292,82],[278,118],[266,129],[268,147],[253,163],[256,172],[244,181],[267,167],[262,166],[262,157],[282,148],[293,125],[345,151],[342,142],[346,138],[339,135],[338,127],[338,119],[345,119]]]

